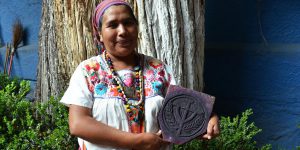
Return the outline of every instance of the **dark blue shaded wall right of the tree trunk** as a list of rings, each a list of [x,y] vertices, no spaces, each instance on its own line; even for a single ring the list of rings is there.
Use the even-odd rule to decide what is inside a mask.
[[[259,145],[300,146],[300,1],[207,0],[205,44],[216,111],[253,108]]]

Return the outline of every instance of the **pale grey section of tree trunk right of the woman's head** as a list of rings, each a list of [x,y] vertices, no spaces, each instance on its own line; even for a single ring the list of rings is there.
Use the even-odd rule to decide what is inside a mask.
[[[204,0],[138,0],[139,50],[173,70],[179,85],[203,89]]]

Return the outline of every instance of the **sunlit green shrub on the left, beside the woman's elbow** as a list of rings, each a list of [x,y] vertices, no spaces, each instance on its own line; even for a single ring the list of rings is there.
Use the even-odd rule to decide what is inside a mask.
[[[5,88],[0,90],[1,148],[77,148],[76,139],[69,135],[68,111],[58,99],[50,98],[43,104],[30,102],[25,98],[30,90],[28,81],[9,81],[2,77],[7,85],[3,84]]]

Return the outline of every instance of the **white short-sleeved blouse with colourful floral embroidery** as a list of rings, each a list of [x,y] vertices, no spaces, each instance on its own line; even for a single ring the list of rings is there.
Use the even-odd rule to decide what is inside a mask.
[[[145,132],[159,130],[157,115],[170,84],[175,84],[171,70],[163,62],[149,56],[144,57],[143,77],[145,93]],[[133,71],[120,70],[118,75],[130,93]],[[132,92],[132,91],[131,91]],[[132,102],[137,102],[131,100]],[[81,62],[73,73],[69,87],[61,103],[79,105],[92,109],[93,118],[116,129],[130,132],[128,117],[118,91],[112,83],[105,59],[95,56]],[[78,138],[80,148],[87,150],[119,149],[97,145]],[[170,149],[171,146],[162,149]]]

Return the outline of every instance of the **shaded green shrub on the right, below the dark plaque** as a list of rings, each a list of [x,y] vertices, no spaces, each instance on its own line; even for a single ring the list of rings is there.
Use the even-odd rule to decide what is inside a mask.
[[[205,140],[193,140],[183,145],[176,145],[176,150],[191,150],[191,149],[205,149],[205,150],[256,150],[256,141],[253,137],[261,132],[254,123],[248,123],[248,118],[252,115],[252,109],[247,109],[242,113],[242,116],[237,115],[234,118],[221,117],[220,128],[221,134],[217,138]],[[262,150],[271,149],[271,145],[261,147]]]

